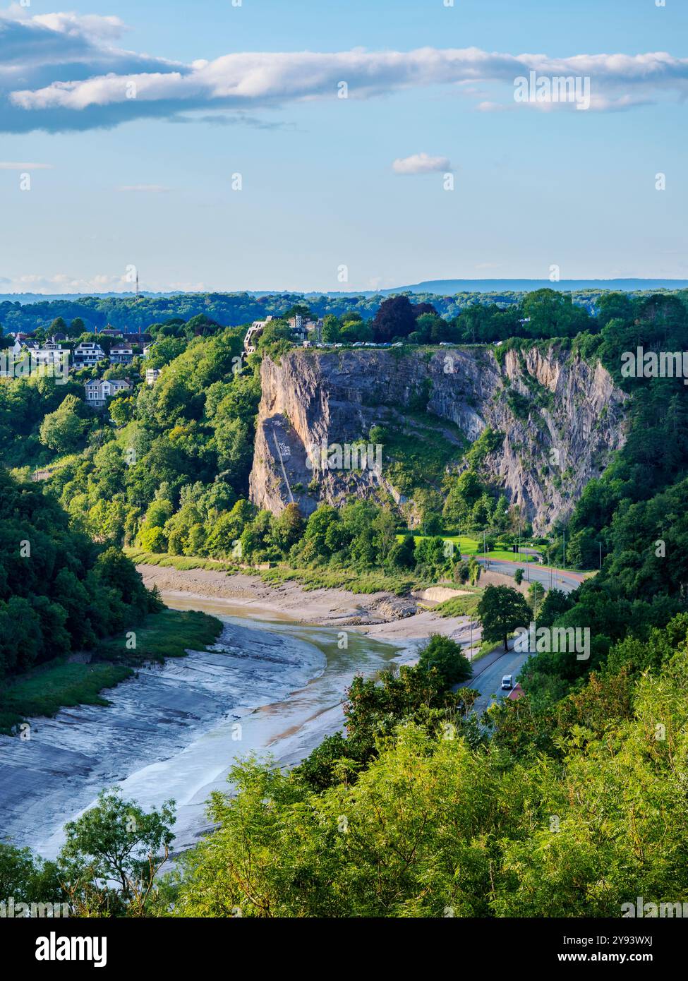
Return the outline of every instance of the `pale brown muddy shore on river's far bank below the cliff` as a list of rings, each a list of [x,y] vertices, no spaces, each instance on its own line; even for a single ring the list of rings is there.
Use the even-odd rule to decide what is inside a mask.
[[[354,627],[378,641],[408,648],[431,634],[465,642],[466,617],[441,617],[422,610],[409,597],[391,593],[353,594],[346,590],[304,590],[297,583],[268,586],[257,576],[228,575],[214,569],[179,569],[157,565],[136,567],[148,587],[170,596],[217,599],[241,607],[249,615],[278,614],[295,623],[320,627]],[[474,631],[479,639],[479,630]]]

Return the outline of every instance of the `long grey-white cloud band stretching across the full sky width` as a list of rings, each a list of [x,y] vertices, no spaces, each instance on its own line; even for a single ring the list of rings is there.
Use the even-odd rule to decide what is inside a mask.
[[[179,120],[199,111],[244,112],[297,100],[334,100],[343,79],[353,99],[431,85],[460,86],[462,94],[475,88],[483,99],[482,111],[505,106],[513,110],[514,78],[529,72],[590,77],[593,111],[630,109],[688,95],[688,59],[662,51],[553,58],[479,48],[356,48],[238,53],[182,64],[114,46],[125,29],[116,17],[29,16],[18,5],[0,14],[0,130],[114,127],[141,118]],[[485,101],[484,90],[476,88],[486,83],[502,86],[497,97],[491,91],[492,101]],[[529,105],[521,103],[515,110]],[[565,103],[536,106],[550,111],[575,108]],[[253,120],[247,117],[243,122],[260,125]]]

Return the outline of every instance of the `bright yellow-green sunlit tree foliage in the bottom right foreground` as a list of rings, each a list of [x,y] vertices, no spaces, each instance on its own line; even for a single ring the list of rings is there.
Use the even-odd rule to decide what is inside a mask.
[[[185,855],[175,913],[619,916],[638,896],[681,902],[685,642],[618,711],[597,731],[562,729],[560,758],[524,760],[409,722],[354,783],[321,793],[248,760],[236,797],[213,795],[219,830]]]

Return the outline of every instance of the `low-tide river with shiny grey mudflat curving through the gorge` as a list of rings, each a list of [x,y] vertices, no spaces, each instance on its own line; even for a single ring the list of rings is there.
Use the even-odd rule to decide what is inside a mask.
[[[343,728],[344,690],[398,657],[397,647],[353,629],[294,624],[227,600],[163,594],[225,629],[210,652],[140,669],[105,693],[108,706],[64,708],[30,719],[30,739],[0,736],[0,835],[54,857],[63,825],[118,785],[145,808],[177,802],[174,850],[209,828],[205,801],[227,790],[246,753],[292,765]],[[342,646],[345,642],[346,646]]]

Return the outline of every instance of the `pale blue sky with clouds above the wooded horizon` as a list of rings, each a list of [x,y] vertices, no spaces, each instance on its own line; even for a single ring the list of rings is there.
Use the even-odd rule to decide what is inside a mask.
[[[688,278],[687,8],[0,8],[0,292]],[[516,104],[531,70],[590,107]]]

